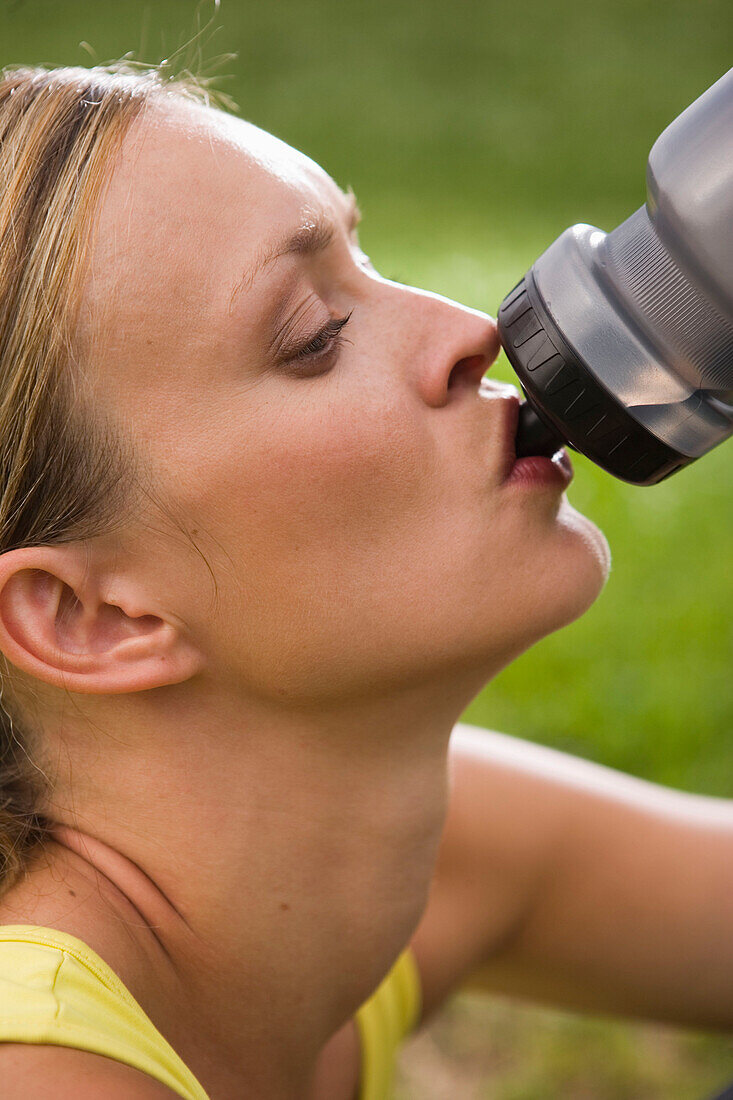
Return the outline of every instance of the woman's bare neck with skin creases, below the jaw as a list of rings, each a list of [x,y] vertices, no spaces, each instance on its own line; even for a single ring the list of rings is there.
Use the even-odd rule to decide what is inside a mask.
[[[317,715],[156,695],[116,697],[88,761],[75,746],[56,838],[146,958],[154,937],[143,1007],[205,1088],[302,1097],[423,913],[470,695]]]

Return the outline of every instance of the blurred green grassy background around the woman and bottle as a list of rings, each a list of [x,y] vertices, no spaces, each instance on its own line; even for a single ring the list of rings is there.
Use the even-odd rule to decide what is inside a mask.
[[[608,230],[642,205],[655,138],[733,65],[730,0],[222,0],[186,46],[212,12],[0,0],[0,65],[180,51],[219,69],[244,118],[354,188],[385,275],[492,314],[566,226]],[[513,377],[503,356],[495,373]],[[577,458],[569,496],[608,535],[609,583],[467,721],[731,796],[732,459],[729,443],[636,488]],[[724,1037],[460,994],[404,1049],[397,1092],[701,1100],[727,1078]]]

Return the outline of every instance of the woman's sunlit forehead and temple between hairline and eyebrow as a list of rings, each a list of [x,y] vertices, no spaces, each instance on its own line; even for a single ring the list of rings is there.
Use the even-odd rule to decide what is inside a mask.
[[[125,136],[97,215],[80,344],[106,362],[207,355],[226,339],[232,288],[263,252],[314,212],[348,202],[309,157],[252,123],[155,100]],[[262,314],[266,287],[241,306]]]

